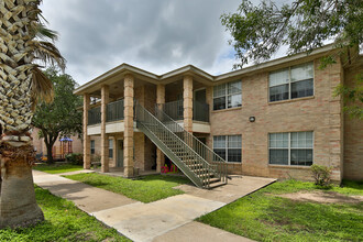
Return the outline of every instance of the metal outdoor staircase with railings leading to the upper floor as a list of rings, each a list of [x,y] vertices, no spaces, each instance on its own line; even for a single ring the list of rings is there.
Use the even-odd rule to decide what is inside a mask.
[[[136,103],[136,125],[198,187],[228,183],[227,163],[160,109],[155,116]]]

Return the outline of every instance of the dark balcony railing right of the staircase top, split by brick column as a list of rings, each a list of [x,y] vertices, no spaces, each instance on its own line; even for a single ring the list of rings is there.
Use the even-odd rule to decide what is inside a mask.
[[[183,100],[166,102],[162,106],[162,110],[173,120],[184,119]],[[209,122],[209,105],[194,101],[193,120]]]

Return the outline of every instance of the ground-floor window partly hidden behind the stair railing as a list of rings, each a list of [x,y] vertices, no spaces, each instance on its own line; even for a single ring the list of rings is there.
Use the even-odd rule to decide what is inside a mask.
[[[213,151],[227,162],[242,162],[241,135],[213,136]]]

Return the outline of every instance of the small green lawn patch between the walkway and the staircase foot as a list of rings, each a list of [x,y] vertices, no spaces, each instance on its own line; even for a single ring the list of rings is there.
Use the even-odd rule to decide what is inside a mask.
[[[180,184],[188,184],[189,180],[179,176],[150,175],[143,176],[139,180],[125,179],[101,174],[77,174],[65,176],[69,179],[103,188],[116,194],[124,195],[129,198],[152,202],[170,196],[184,194],[179,189],[173,189]]]

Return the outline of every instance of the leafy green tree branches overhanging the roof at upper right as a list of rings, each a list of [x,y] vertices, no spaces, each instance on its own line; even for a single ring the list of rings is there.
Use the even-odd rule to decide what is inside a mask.
[[[263,0],[258,6],[242,0],[235,13],[221,15],[221,22],[231,33],[230,44],[240,59],[235,69],[250,61],[270,59],[282,46],[288,46],[287,54],[310,53],[332,41],[339,51],[323,57],[321,68],[343,54],[350,63],[359,57],[358,52],[352,56],[350,50],[363,47],[362,0],[294,0],[289,4]],[[337,87],[337,94],[351,101],[360,100],[354,111],[345,106],[345,110],[360,117],[356,113],[362,113],[362,98],[358,90],[362,91],[362,81],[356,80],[356,85],[351,92],[348,87]]]

